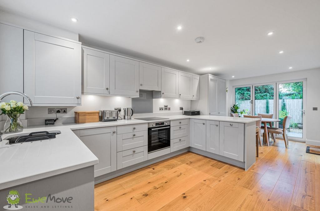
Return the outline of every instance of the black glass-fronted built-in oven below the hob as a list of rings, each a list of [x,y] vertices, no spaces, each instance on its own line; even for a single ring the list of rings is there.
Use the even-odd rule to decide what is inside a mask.
[[[148,153],[170,147],[170,121],[148,123]]]

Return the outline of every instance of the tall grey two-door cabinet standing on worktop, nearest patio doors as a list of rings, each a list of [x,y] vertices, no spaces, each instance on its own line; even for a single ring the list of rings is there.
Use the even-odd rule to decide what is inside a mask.
[[[226,115],[226,80],[210,74],[200,76],[199,101],[191,102],[191,109],[200,110],[201,115]]]

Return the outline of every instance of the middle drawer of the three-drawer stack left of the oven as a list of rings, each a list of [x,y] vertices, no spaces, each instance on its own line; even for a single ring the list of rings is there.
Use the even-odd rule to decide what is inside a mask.
[[[117,152],[148,145],[148,131],[130,132],[117,135]]]

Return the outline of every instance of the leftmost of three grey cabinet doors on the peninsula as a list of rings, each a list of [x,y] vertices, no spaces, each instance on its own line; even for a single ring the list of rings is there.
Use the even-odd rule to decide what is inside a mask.
[[[206,150],[206,120],[191,119],[191,144],[190,147]]]

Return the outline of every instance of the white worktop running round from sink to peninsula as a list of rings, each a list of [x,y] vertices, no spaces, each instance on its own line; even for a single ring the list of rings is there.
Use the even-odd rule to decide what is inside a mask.
[[[193,118],[237,123],[251,123],[258,120],[253,118],[204,115],[161,117],[168,118],[168,120]],[[97,164],[98,158],[82,143],[72,130],[156,121],[161,120],[144,121],[132,119],[59,126],[39,125],[26,128],[22,133],[60,131],[61,134],[52,140],[12,145],[7,144],[8,141],[5,138],[18,133],[4,134],[2,137],[4,140],[0,142],[0,190]]]

